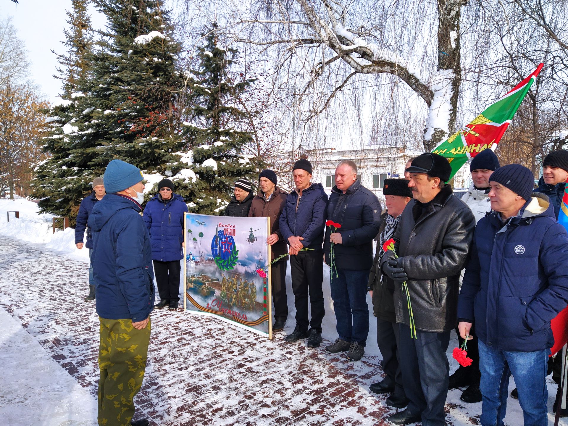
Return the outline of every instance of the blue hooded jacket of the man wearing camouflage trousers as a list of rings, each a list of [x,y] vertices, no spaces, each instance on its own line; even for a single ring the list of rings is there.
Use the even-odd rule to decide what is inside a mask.
[[[150,236],[130,197],[106,194],[89,217],[97,314],[143,321],[154,306]]]

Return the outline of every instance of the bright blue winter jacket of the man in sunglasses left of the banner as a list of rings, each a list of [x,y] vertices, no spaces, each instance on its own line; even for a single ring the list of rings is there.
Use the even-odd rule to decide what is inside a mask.
[[[171,262],[183,258],[183,215],[187,206],[181,195],[167,201],[154,195],[144,207],[144,223],[150,233],[152,259]]]

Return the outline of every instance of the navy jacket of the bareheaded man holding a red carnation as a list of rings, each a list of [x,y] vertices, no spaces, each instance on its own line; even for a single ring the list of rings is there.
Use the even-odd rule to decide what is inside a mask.
[[[381,204],[375,194],[355,181],[344,194],[334,186],[327,204],[327,219],[339,223],[342,244],[335,245],[335,265],[339,269],[371,269],[373,239],[381,227]],[[329,236],[325,227],[324,254],[329,264]]]

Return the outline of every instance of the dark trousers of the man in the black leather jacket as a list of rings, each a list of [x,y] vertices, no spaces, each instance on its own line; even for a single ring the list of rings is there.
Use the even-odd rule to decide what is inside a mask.
[[[408,325],[399,324],[399,327],[402,382],[410,400],[408,409],[422,414],[423,426],[444,426],[450,372],[446,349],[450,332],[416,330],[416,339],[412,339]]]

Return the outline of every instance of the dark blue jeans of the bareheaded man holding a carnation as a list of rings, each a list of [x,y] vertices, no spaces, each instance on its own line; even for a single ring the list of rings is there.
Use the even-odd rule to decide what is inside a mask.
[[[369,269],[337,269],[333,275],[331,298],[337,320],[337,334],[347,342],[356,341],[365,346],[369,334],[369,306],[367,281]]]

